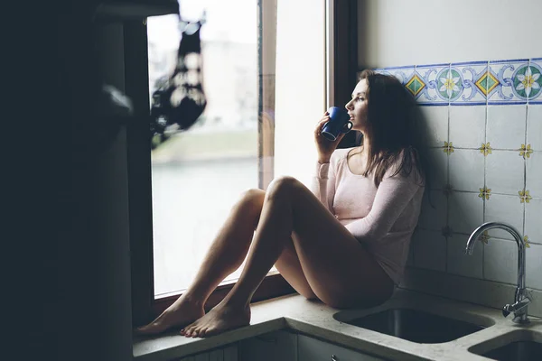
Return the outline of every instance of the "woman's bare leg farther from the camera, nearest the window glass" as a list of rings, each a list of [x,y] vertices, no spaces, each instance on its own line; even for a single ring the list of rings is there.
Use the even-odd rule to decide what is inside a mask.
[[[203,306],[222,280],[238,269],[248,253],[262,209],[263,190],[248,190],[231,209],[218,236],[210,245],[192,285],[150,324],[136,330],[150,335],[185,326],[204,315]]]

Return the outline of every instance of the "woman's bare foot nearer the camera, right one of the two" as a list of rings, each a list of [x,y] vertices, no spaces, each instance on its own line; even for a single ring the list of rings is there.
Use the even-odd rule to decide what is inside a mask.
[[[220,303],[201,319],[182,329],[181,335],[187,338],[206,338],[248,324],[250,324],[250,306],[238,308]]]

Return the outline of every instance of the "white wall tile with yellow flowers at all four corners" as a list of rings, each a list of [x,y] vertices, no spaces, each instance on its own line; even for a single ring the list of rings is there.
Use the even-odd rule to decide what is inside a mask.
[[[518,151],[493,151],[486,156],[486,186],[491,193],[523,190],[525,160]]]

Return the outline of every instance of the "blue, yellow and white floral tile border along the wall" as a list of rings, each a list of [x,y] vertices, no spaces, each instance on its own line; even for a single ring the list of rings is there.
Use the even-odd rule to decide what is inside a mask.
[[[542,104],[542,58],[375,70],[399,79],[420,105]]]

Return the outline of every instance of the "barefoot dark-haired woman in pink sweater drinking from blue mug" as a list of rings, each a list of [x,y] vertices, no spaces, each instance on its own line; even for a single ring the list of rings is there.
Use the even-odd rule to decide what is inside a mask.
[[[189,289],[137,333],[184,327],[186,337],[208,337],[248,325],[250,299],[273,264],[297,292],[334,308],[388,300],[401,280],[425,189],[413,107],[397,79],[363,71],[346,105],[362,144],[335,151],[343,135],[335,142],[322,137],[326,112],[314,130],[311,190],[281,177],[267,191],[245,192]],[[205,314],[210,293],[247,254],[238,282]]]

